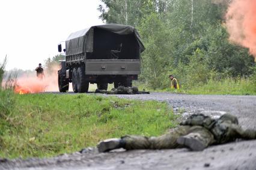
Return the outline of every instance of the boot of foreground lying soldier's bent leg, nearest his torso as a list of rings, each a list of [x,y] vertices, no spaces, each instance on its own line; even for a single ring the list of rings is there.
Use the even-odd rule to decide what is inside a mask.
[[[199,133],[189,133],[186,136],[181,136],[177,139],[177,143],[194,151],[202,151],[207,147]]]

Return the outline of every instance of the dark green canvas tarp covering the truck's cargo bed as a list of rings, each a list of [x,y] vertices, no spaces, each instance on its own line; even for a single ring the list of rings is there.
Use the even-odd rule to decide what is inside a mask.
[[[95,43],[95,29],[104,30],[111,34],[117,35],[134,35],[136,43],[138,43],[139,50],[141,52],[145,50],[145,47],[139,37],[138,31],[136,31],[134,27],[127,25],[107,24],[92,26],[91,28],[83,29],[81,31],[70,34],[66,40],[66,56],[72,56],[81,53],[93,53],[93,45]]]

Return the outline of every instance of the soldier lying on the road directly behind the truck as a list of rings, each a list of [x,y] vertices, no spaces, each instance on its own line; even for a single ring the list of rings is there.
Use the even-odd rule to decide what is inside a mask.
[[[108,95],[134,95],[134,94],[149,94],[150,92],[139,92],[138,87],[124,87],[124,86],[119,86],[116,89],[113,88],[111,89],[111,91],[107,91],[107,90],[99,90],[96,89],[95,93],[102,93],[102,94],[108,94]]]

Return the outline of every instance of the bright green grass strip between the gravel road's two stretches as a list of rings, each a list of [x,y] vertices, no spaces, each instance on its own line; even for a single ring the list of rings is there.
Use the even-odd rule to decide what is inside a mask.
[[[165,102],[7,91],[0,97],[0,157],[55,156],[106,138],[160,135],[177,125]]]

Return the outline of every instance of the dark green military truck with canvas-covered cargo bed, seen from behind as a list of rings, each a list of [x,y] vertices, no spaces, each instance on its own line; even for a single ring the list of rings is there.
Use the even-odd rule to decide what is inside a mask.
[[[88,92],[89,84],[107,90],[132,86],[141,70],[140,54],[145,50],[132,26],[107,24],[92,26],[70,34],[66,40],[66,60],[58,71],[59,92],[68,92],[72,83],[75,93]],[[62,51],[58,44],[58,51]]]

